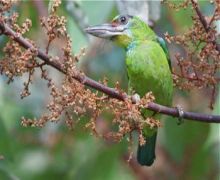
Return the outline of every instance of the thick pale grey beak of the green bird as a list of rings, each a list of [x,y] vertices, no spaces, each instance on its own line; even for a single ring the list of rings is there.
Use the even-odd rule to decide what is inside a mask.
[[[113,26],[112,24],[102,24],[91,26],[85,29],[85,32],[99,38],[112,38],[117,35],[122,35],[126,28],[124,26]]]

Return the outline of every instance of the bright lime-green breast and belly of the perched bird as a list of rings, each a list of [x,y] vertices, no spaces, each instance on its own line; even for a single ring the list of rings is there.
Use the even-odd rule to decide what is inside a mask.
[[[141,97],[152,91],[156,102],[170,105],[173,83],[166,55],[153,44],[137,46],[127,51],[127,74],[130,92]]]

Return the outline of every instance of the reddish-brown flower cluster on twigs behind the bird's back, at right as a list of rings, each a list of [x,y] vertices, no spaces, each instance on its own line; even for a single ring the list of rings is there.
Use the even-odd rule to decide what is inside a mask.
[[[209,21],[201,14],[194,0],[184,1],[179,6],[168,4],[176,10],[192,6],[195,11],[192,27],[187,32],[176,36],[165,34],[167,42],[180,44],[186,53],[185,56],[175,55],[177,66],[173,68],[174,83],[185,90],[211,88],[210,108],[213,108],[216,85],[220,81],[217,74],[220,68],[220,46],[217,44],[218,32],[214,24],[220,19],[219,2],[216,1],[216,9]]]

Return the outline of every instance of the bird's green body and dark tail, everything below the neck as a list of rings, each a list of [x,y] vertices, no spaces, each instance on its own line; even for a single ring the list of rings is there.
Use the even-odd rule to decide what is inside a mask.
[[[129,88],[141,97],[152,91],[156,102],[170,105],[172,102],[172,78],[163,49],[156,41],[133,42],[126,53]],[[151,116],[145,111],[143,116]],[[157,115],[156,118],[160,118]],[[156,129],[144,130],[146,144],[139,146],[137,159],[142,165],[151,165],[155,159]]]

